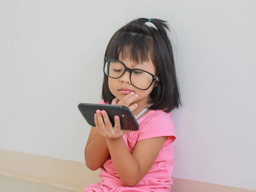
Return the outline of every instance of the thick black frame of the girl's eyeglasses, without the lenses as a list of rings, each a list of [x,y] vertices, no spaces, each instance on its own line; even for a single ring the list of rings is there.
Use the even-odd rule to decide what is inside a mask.
[[[105,73],[105,66],[106,66],[106,64],[107,64],[107,61],[110,60],[110,59],[113,59],[113,60],[118,61],[118,62],[120,62],[121,64],[123,64],[123,66],[125,67],[125,70],[124,70],[124,72],[122,73],[122,75],[125,74],[126,71],[129,71],[129,72],[130,72],[130,81],[131,81],[131,73],[132,73],[133,71],[135,71],[135,70],[143,71],[143,72],[148,73],[149,75],[152,76],[152,81],[151,81],[150,85],[148,86],[148,88],[154,83],[154,81],[158,81],[158,82],[160,81],[160,79],[159,79],[157,76],[153,75],[152,73],[149,73],[148,71],[145,71],[145,70],[142,70],[142,69],[131,69],[131,68],[129,68],[129,67],[126,67],[126,65],[125,65],[122,61],[119,61],[119,60],[117,60],[117,59],[115,59],[115,58],[112,58],[112,57],[104,57],[103,72],[104,72],[104,74],[105,74],[106,76],[108,76],[108,77],[110,77],[110,78],[112,78],[112,79],[118,79],[118,78],[122,77],[122,75],[120,75],[119,77],[111,77],[111,76],[109,76],[108,74]],[[132,84],[134,87],[136,87],[132,82],[131,82],[131,84]],[[146,89],[141,89],[141,88],[139,88],[139,87],[136,87],[136,88],[138,88],[138,89],[140,89],[140,90],[147,90],[147,89],[148,89],[148,88],[146,88]]]

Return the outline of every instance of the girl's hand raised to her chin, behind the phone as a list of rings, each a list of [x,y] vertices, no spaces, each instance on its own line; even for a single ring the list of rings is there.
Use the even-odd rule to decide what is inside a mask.
[[[134,100],[137,98],[138,98],[138,95],[135,94],[134,92],[131,92],[127,94],[125,97],[123,97],[120,101],[117,98],[113,99],[111,105],[124,105],[128,107],[131,111],[134,111],[134,109],[136,109],[138,105],[136,103],[131,105],[131,103],[134,102]]]

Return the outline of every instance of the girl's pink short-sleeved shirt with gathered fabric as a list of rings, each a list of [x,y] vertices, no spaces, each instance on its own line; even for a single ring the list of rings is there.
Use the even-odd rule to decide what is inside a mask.
[[[103,104],[104,101],[99,103]],[[174,160],[173,142],[176,138],[171,114],[159,110],[148,111],[137,122],[140,125],[140,129],[123,136],[131,153],[138,141],[153,137],[172,136],[166,139],[157,159],[145,177],[136,186],[124,186],[116,173],[111,158],[108,158],[99,173],[102,181],[90,184],[84,188],[84,192],[170,192]]]

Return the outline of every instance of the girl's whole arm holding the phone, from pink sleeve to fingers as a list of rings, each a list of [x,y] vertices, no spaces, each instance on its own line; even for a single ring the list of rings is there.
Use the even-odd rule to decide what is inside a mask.
[[[123,134],[131,131],[121,130],[119,116],[115,116],[115,126],[111,125],[106,111],[96,111],[95,123],[104,137],[113,165],[122,183],[134,186],[146,175],[156,160],[166,138],[175,140],[171,116],[159,113],[140,128],[138,142],[131,154],[123,140]],[[157,128],[157,132],[155,131]]]

